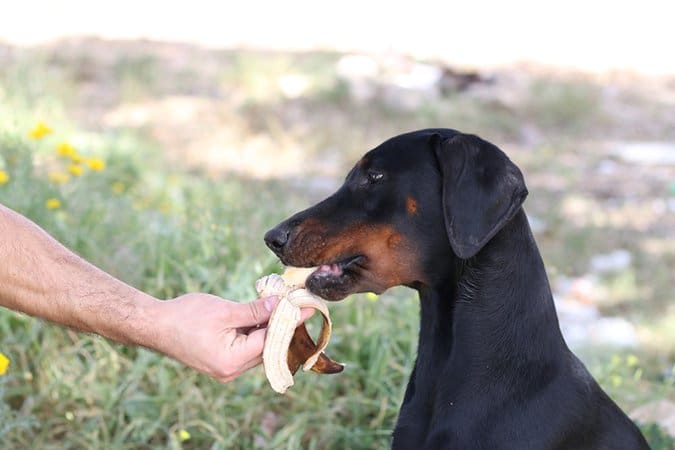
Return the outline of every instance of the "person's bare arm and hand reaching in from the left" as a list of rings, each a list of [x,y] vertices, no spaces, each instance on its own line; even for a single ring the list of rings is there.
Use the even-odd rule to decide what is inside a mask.
[[[165,353],[225,382],[260,363],[274,299],[192,293],[160,301],[0,205],[0,306]]]

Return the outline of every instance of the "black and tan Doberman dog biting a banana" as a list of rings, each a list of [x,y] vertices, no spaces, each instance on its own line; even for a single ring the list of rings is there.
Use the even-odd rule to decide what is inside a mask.
[[[368,152],[337,192],[265,235],[282,263],[319,266],[307,287],[327,300],[418,291],[392,448],[649,448],[565,344],[527,194],[495,145],[420,130]]]

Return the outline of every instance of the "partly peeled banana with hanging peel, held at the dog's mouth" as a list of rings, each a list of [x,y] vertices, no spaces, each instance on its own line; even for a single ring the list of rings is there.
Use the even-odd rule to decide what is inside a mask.
[[[267,325],[263,365],[272,389],[281,394],[293,385],[293,375],[300,366],[318,373],[337,373],[344,368],[323,353],[332,329],[328,308],[321,298],[304,289],[305,280],[314,269],[288,267],[283,275],[270,274],[256,282],[261,297],[279,297]],[[300,308],[317,309],[323,316],[316,344],[304,324],[297,326]]]

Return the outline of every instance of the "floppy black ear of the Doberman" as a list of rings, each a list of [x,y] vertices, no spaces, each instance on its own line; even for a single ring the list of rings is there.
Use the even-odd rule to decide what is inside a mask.
[[[471,258],[518,212],[527,188],[523,175],[495,145],[468,134],[435,134],[443,183],[443,215],[457,256]]]

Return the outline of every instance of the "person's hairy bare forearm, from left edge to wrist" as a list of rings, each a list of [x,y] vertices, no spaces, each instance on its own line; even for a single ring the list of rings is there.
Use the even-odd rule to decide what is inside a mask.
[[[0,205],[0,306],[125,344],[153,346],[158,303]]]

